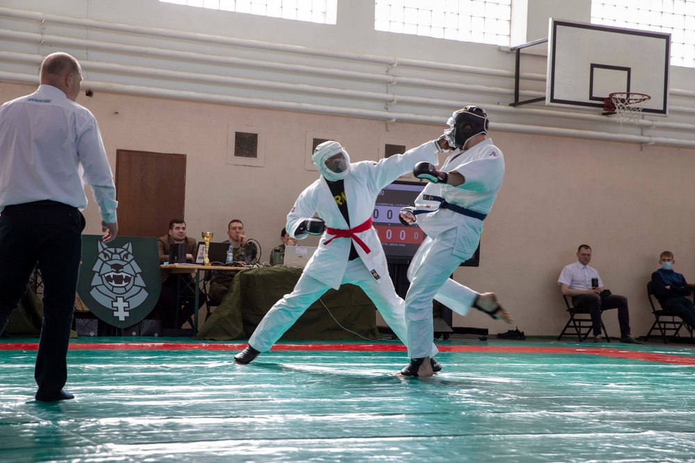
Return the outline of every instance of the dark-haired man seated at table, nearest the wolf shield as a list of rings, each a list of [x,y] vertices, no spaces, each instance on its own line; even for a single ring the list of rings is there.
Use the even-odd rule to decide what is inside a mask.
[[[172,244],[186,244],[186,261],[193,262],[193,255],[197,249],[195,239],[186,236],[186,222],[183,219],[172,219],[169,222],[169,233],[157,238],[159,248],[159,263],[169,260]],[[178,283],[179,279],[181,283]],[[179,326],[176,325],[177,285],[181,289],[179,294]],[[162,269],[162,290],[159,294],[157,307],[162,317],[162,328],[181,328],[193,316],[195,305],[195,293],[193,292],[193,278],[190,273],[172,273],[169,269]],[[205,303],[205,296],[198,292],[198,308]]]

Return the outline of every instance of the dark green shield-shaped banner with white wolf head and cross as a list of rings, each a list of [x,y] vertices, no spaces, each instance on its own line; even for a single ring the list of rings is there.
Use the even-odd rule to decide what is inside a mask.
[[[82,236],[77,293],[99,319],[135,325],[152,312],[161,286],[156,238],[119,236],[103,244],[100,235]]]

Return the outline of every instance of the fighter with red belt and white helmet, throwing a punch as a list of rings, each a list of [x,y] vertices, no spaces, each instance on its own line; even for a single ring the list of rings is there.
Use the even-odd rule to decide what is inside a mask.
[[[350,164],[350,157],[337,142],[316,146],[311,161],[321,176],[295,201],[287,215],[286,229],[296,239],[322,235],[318,249],[293,292],[272,306],[256,327],[249,345],[234,356],[236,362],[247,364],[268,351],[309,305],[328,289],[338,289],[343,283],[361,287],[393,332],[403,341],[407,339],[404,301],[393,289],[386,256],[372,226],[372,213],[379,192],[411,171],[416,162],[439,163],[438,146],[436,142],[427,142],[379,162],[354,164]],[[428,365],[439,371],[441,366],[432,358],[439,351],[432,339],[428,344],[429,348],[424,348],[425,357],[430,357]]]

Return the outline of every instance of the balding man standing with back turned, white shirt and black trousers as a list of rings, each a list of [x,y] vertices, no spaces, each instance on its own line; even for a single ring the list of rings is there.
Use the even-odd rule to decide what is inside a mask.
[[[67,346],[75,305],[87,206],[83,183],[101,212],[104,242],[115,238],[116,189],[94,115],[75,103],[82,69],[67,53],[41,63],[33,94],[0,106],[0,331],[38,265],[44,319],[34,377],[38,401],[74,396]]]

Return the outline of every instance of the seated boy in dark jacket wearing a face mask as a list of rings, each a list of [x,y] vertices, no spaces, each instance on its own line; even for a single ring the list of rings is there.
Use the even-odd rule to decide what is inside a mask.
[[[673,271],[675,263],[671,251],[661,253],[661,268],[652,273],[652,292],[662,309],[678,315],[690,329],[695,329],[695,307],[687,298],[690,295],[690,287],[682,274]]]

